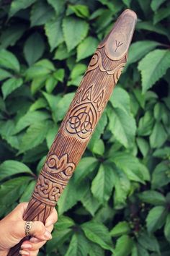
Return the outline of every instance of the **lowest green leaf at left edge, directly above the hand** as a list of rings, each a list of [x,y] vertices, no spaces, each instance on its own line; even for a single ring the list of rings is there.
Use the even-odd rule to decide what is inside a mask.
[[[0,205],[12,205],[12,203],[17,201],[31,179],[28,176],[20,176],[19,178],[10,179],[1,184]]]

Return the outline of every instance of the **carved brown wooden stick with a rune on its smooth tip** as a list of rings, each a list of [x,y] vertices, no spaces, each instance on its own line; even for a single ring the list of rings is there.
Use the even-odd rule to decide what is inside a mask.
[[[125,66],[136,19],[135,12],[129,9],[122,12],[97,47],[48,152],[25,221],[45,223],[68,184]],[[19,255],[20,244],[8,256]]]

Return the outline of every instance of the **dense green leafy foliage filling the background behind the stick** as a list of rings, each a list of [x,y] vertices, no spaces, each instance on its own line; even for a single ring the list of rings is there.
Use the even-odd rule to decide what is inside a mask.
[[[40,255],[170,255],[170,4],[1,0],[0,213],[29,200],[90,56],[122,10],[128,64]]]

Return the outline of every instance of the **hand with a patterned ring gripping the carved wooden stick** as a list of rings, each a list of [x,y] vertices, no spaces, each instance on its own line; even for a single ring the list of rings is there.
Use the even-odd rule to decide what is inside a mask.
[[[27,205],[28,202],[20,203],[0,221],[0,230],[3,231],[3,235],[0,237],[0,256],[6,256],[9,249],[24,238],[25,221],[23,221],[23,216]],[[40,247],[52,238],[50,232],[53,230],[53,224],[57,219],[57,211],[54,208],[45,221],[45,225],[41,221],[32,221],[32,228],[30,230],[31,238],[22,243],[19,251],[20,255],[36,256]]]

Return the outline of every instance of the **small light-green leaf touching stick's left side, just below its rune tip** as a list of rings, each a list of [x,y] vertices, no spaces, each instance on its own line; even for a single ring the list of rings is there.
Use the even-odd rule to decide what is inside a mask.
[[[83,42],[79,44],[77,47],[77,59],[76,61],[80,61],[81,59],[85,59],[86,57],[94,54],[94,51],[97,48],[99,41],[96,38],[92,38],[89,36],[84,39]]]

